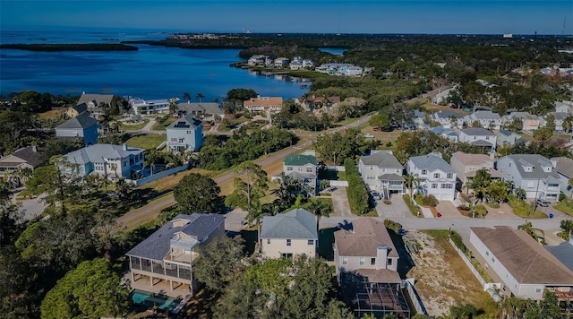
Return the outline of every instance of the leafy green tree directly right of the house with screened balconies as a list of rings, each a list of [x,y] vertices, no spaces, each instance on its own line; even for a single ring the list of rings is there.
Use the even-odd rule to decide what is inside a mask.
[[[244,240],[240,236],[219,237],[201,248],[193,264],[193,276],[207,287],[222,291],[244,271]]]

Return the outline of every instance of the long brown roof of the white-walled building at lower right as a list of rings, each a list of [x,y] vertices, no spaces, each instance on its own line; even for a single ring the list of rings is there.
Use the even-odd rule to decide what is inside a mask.
[[[573,285],[573,272],[524,230],[507,226],[470,229],[521,284]]]

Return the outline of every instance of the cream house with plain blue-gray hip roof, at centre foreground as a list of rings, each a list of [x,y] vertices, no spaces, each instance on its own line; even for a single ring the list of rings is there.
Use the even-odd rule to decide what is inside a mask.
[[[319,236],[316,217],[302,208],[266,216],[261,228],[261,254],[267,258],[314,257]]]

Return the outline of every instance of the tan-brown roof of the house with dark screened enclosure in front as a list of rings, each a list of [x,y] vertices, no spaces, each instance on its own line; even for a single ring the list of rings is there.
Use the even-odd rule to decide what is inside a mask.
[[[353,230],[340,229],[334,233],[339,256],[376,256],[378,246],[389,248],[389,257],[398,257],[392,238],[379,220],[363,217],[352,221]]]

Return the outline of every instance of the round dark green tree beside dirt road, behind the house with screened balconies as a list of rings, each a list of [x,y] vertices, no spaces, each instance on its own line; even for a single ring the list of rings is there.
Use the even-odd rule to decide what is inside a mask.
[[[173,190],[175,202],[184,213],[214,212],[220,204],[217,183],[199,173],[191,173],[181,179]]]

